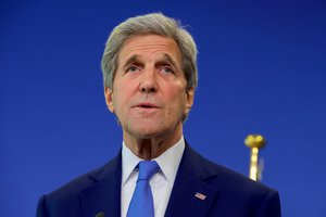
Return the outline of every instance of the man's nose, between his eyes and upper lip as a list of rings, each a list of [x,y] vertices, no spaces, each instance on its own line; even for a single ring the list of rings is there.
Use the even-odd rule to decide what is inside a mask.
[[[158,80],[153,68],[143,71],[139,89],[141,92],[146,93],[153,93],[158,91]]]

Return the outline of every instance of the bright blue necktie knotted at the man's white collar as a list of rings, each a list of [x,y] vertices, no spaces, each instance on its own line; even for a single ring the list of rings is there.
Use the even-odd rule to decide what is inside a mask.
[[[154,217],[153,195],[149,180],[160,168],[154,161],[139,162],[136,189],[129,204],[127,217]]]

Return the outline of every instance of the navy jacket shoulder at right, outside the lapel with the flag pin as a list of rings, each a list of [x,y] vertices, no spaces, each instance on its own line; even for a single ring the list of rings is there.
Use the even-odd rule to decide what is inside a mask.
[[[192,162],[189,170],[217,192],[212,214],[227,210],[228,216],[280,216],[276,190],[203,157],[190,146],[185,154],[185,161]]]

